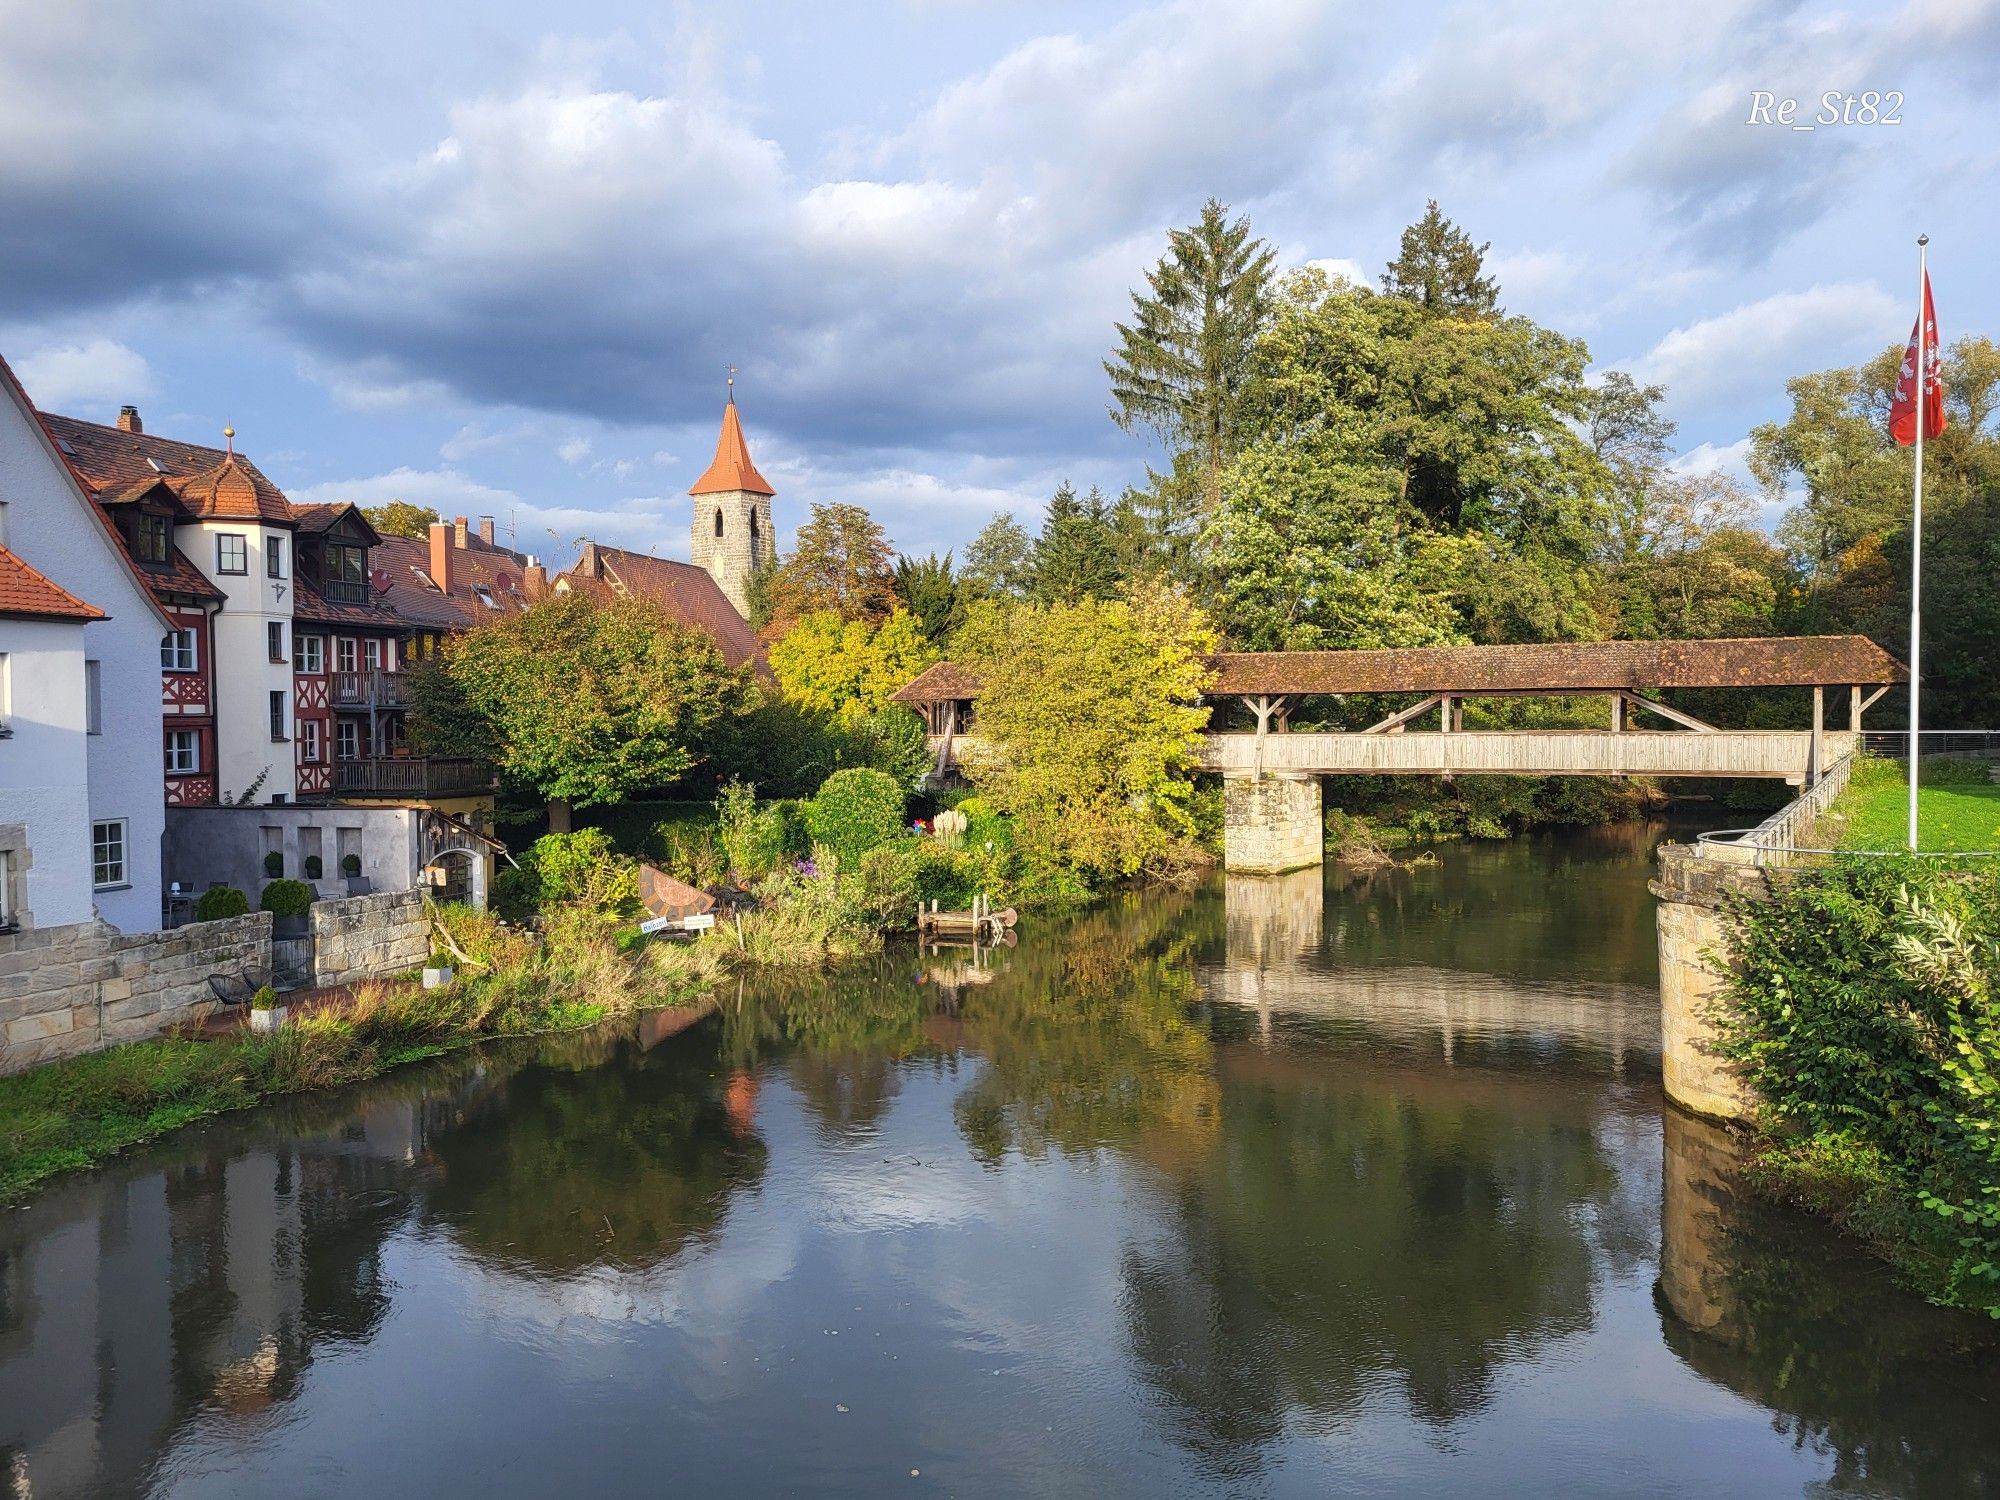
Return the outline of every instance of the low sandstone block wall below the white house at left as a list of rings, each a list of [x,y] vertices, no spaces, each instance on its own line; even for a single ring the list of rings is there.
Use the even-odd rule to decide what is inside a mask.
[[[200,1020],[210,974],[270,976],[270,912],[172,932],[108,922],[0,936],[0,1074]]]

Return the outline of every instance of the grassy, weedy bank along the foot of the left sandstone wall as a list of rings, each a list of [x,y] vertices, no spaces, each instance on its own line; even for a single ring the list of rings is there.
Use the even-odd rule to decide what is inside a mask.
[[[690,1004],[730,964],[720,942],[622,950],[592,912],[558,916],[540,942],[476,914],[450,926],[474,964],[440,990],[368,984],[350,1008],[274,1034],[134,1042],[0,1078],[0,1202],[212,1114],[490,1038]]]

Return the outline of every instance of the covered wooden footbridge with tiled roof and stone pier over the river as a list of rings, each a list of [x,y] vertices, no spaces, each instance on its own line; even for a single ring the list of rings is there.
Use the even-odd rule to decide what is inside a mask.
[[[1320,776],[1758,776],[1810,786],[1852,754],[1862,714],[1906,678],[1866,636],[1598,640],[1354,652],[1220,652],[1208,700],[1254,728],[1212,730],[1232,870],[1320,860]],[[1726,730],[1662,702],[1670,690],[1810,688],[1810,724]],[[1828,722],[1828,692],[1844,728]],[[938,768],[978,744],[978,680],[940,662],[896,694],[924,714]],[[1360,730],[1292,732],[1308,698],[1408,698]],[[1464,728],[1474,698],[1602,698],[1604,728]],[[1844,710],[1844,712],[1842,712]]]

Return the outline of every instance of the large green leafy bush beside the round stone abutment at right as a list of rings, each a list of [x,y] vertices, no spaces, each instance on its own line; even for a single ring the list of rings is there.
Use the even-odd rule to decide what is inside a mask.
[[[1924,1290],[2000,1316],[2000,870],[1854,856],[1732,916],[1724,1050],[1768,1164],[1818,1202],[1866,1164],[1850,1196],[1900,1198]]]

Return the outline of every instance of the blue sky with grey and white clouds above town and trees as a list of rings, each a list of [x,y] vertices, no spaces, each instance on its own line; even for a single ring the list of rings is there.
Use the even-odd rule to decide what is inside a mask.
[[[1730,464],[1908,334],[1918,230],[1946,336],[2000,332],[1996,86],[2000,0],[0,0],[0,352],[556,562],[686,556],[738,366],[782,528],[944,548],[1156,458],[1100,358],[1204,198],[1366,276],[1438,198]]]

